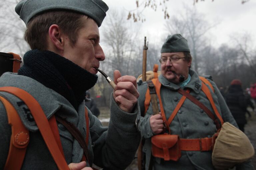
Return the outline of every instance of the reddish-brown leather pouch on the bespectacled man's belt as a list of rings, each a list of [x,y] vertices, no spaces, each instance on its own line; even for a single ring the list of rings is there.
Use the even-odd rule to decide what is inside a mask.
[[[152,155],[165,161],[178,161],[181,157],[180,138],[174,134],[158,134],[151,137]]]

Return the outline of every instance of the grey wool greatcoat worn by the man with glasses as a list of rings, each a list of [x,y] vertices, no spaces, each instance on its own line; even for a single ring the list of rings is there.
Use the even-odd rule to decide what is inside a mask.
[[[185,88],[191,89],[190,94],[201,103],[203,103],[208,109],[210,109],[212,113],[214,113],[206,95],[203,93],[203,91],[201,91],[201,81],[197,73],[190,69],[189,74],[191,75],[191,80],[185,86]],[[169,82],[162,75],[159,76],[159,81],[162,84],[160,93],[166,119],[168,120],[182,95],[176,91],[179,89],[179,86]],[[232,117],[218,88],[216,87],[216,84],[211,80],[209,81],[213,85],[215,92],[213,93],[211,88],[208,85],[207,86],[211,91],[214,103],[224,122],[229,122],[237,127],[237,124]],[[147,83],[143,82],[138,84],[138,91],[140,93],[138,100],[141,113],[144,113],[144,100],[147,90]],[[143,146],[143,152],[146,154],[146,169],[148,169],[151,155],[151,137],[154,135],[149,124],[149,118],[152,114],[153,111],[150,104],[145,117],[142,118],[140,122],[142,135],[146,139]],[[180,138],[186,139],[211,137],[217,131],[213,120],[201,108],[192,103],[189,99],[185,100],[169,127],[171,129],[171,134],[178,134]],[[211,154],[211,151],[182,151],[181,158],[177,162],[164,161],[161,158],[154,157],[153,167],[154,170],[213,170],[214,167],[212,165]],[[253,166],[251,165],[251,162],[243,163],[242,165],[237,166],[237,170],[242,169],[251,170],[253,169]]]

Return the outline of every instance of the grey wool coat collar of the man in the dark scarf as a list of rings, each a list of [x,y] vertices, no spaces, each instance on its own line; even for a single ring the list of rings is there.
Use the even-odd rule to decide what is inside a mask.
[[[33,88],[31,88],[31,85],[33,85]],[[47,119],[60,108],[62,108],[62,110],[68,110],[70,115],[78,118],[78,113],[67,99],[32,78],[17,75],[16,73],[4,73],[0,78],[0,87],[4,86],[18,87],[31,94],[42,107]],[[5,92],[1,92],[1,96],[8,98],[13,104],[26,128],[31,131],[36,131],[38,129],[34,119],[31,116],[28,116],[29,112],[27,111],[27,106],[19,104],[21,102],[19,98]],[[47,96],[47,98],[45,96]]]

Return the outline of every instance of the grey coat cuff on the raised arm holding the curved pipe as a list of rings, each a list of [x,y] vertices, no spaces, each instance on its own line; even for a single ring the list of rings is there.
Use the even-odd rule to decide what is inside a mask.
[[[141,131],[140,108],[138,103],[134,107],[134,113],[125,112],[119,108],[112,93],[110,99],[110,121],[115,127],[125,131]]]

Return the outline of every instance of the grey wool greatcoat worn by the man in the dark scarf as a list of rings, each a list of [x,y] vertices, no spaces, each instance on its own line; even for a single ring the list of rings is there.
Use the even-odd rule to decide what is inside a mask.
[[[52,89],[46,88],[36,80],[17,75],[5,73],[0,77],[0,87],[14,86],[29,92],[41,105],[46,117],[49,119],[53,114],[66,118],[73,123],[86,136],[85,104],[79,105],[78,112],[60,94]],[[38,131],[33,119],[29,119],[29,112],[26,106],[18,106],[20,99],[0,92],[0,95],[7,98],[16,108],[26,128],[30,131],[30,141],[27,147],[22,169],[57,169],[57,166]],[[103,127],[95,116],[89,111],[90,137],[88,144],[88,155],[90,164],[94,163],[104,169],[120,170],[125,169],[136,153],[141,139],[140,111],[139,106],[135,107],[134,113],[122,111],[113,96],[111,95],[111,115],[109,127]],[[57,123],[58,124],[58,123]],[[60,139],[64,150],[66,162],[78,163],[82,159],[83,149],[78,141],[63,127],[58,124]],[[11,128],[8,125],[6,111],[0,102],[0,169],[3,169],[8,155]],[[87,162],[88,165],[88,162]]]

